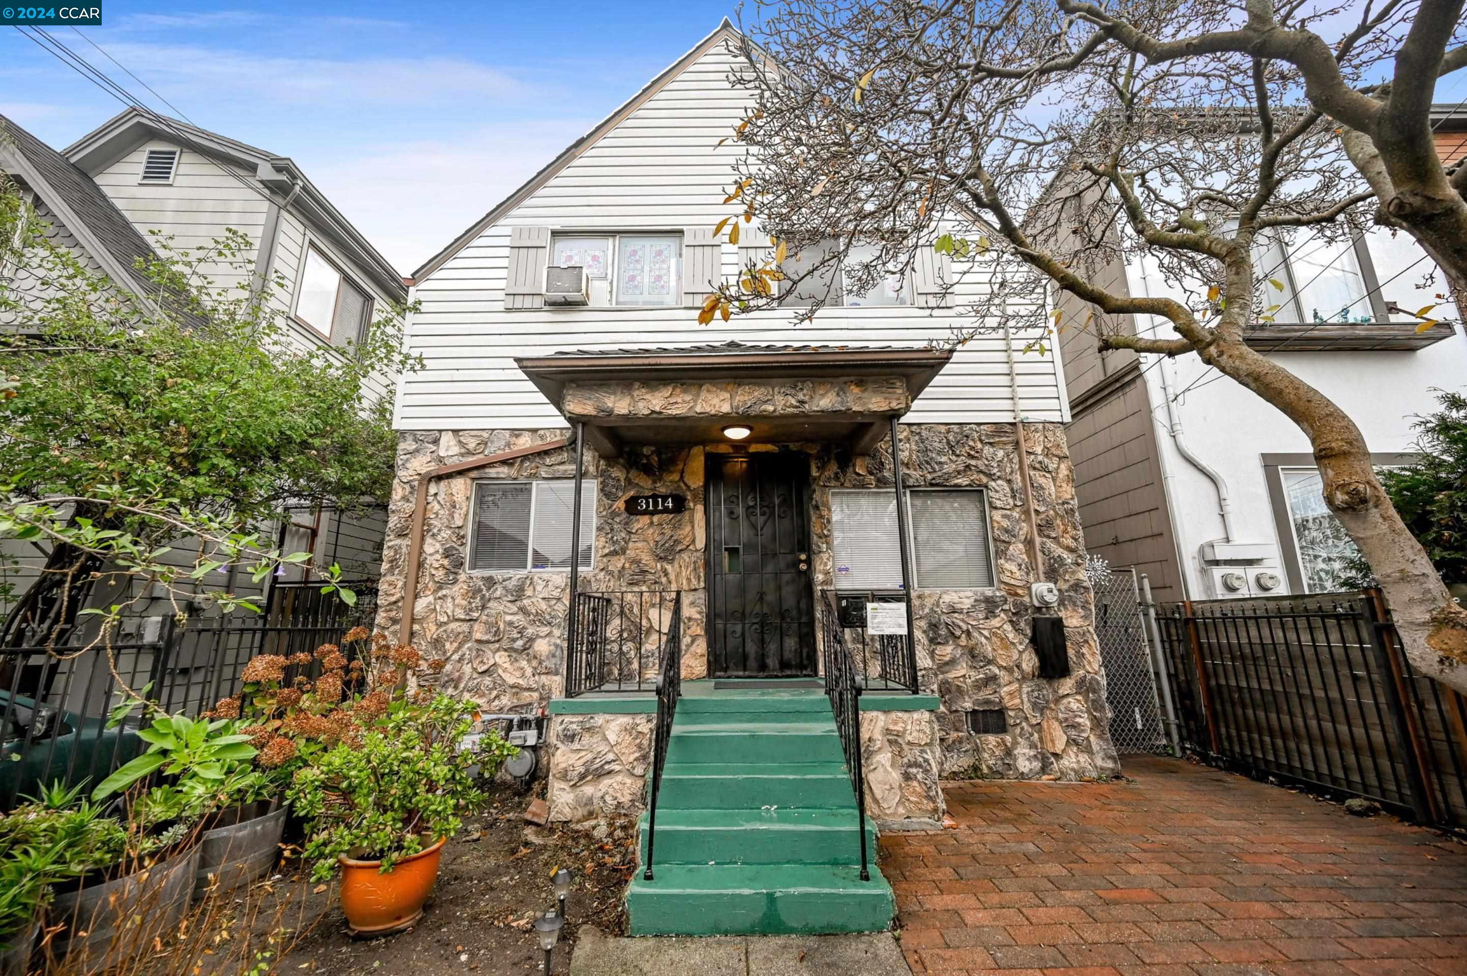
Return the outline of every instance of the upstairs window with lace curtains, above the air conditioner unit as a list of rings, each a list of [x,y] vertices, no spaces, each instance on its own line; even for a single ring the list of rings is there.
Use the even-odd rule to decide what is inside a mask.
[[[682,305],[681,234],[557,234],[550,265],[585,268],[593,306]]]

